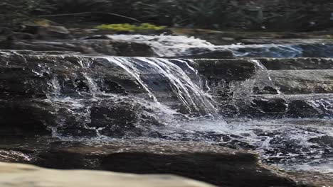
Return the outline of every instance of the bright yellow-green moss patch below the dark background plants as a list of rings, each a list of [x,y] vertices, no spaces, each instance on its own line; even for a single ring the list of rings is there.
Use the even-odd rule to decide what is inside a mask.
[[[116,30],[116,31],[137,31],[137,30],[162,30],[166,28],[165,26],[155,26],[150,23],[142,23],[139,26],[132,25],[129,23],[122,24],[103,24],[100,26],[95,26],[97,29],[101,30]]]

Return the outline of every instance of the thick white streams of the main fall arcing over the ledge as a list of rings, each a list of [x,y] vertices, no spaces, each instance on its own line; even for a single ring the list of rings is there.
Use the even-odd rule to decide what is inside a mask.
[[[157,97],[154,95],[154,87],[151,86],[152,82],[149,79],[143,79],[142,75],[147,72],[158,74],[160,77],[166,79],[173,94],[184,104],[189,113],[199,112],[201,114],[215,115],[216,108],[211,101],[203,93],[200,85],[195,84],[189,78],[189,72],[184,72],[181,67],[172,63],[170,60],[159,58],[147,57],[105,57],[110,63],[115,63],[125,69],[137,82],[147,91],[149,96],[158,102]],[[176,60],[177,63],[183,64],[189,68],[188,62],[184,60]],[[199,77],[198,72],[190,67],[195,77]],[[193,75],[192,75],[193,76]]]

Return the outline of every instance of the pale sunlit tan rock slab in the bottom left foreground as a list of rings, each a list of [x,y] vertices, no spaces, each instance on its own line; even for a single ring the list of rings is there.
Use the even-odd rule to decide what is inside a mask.
[[[213,187],[207,183],[172,175],[121,174],[108,171],[43,169],[26,164],[0,163],[0,186],[168,186]]]

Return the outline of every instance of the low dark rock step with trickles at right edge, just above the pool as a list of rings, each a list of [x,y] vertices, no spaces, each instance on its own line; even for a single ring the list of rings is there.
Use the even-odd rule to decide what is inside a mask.
[[[255,95],[236,102],[238,111],[233,115],[249,118],[322,118],[333,115],[332,95]]]

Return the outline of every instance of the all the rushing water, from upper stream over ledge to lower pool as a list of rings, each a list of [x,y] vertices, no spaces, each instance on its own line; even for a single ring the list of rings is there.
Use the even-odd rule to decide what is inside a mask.
[[[231,50],[236,57],[302,57],[308,50],[301,45],[216,46],[183,36],[109,37],[146,42],[160,57],[214,50]],[[332,45],[313,47],[322,51],[319,54],[322,57],[333,57],[329,52]],[[42,59],[43,55],[31,57]],[[66,58],[70,58],[66,55],[56,57],[66,63],[69,62]],[[218,87],[231,90],[231,104],[232,100],[236,102],[240,98],[243,99],[240,102],[246,102],[256,84],[263,83],[276,91],[266,95],[288,99],[273,84],[268,69],[257,60],[248,60],[255,67],[255,73],[249,79],[208,84],[207,77],[192,67],[191,64],[196,62],[191,60],[105,56],[87,60],[74,57],[79,59],[75,68],[80,70],[66,73],[65,78],[54,70],[58,67],[47,67],[43,63],[31,70],[34,76],[48,79],[46,88],[43,88],[48,94],[43,102],[53,108],[50,113],[56,122],[50,128],[55,137],[70,141],[87,141],[86,137],[90,137],[89,141],[97,142],[114,138],[211,142],[223,147],[254,150],[259,152],[263,162],[284,169],[333,172],[331,94],[309,94],[310,99],[304,101],[314,110],[324,111],[322,118],[222,117],[221,111],[226,106],[219,106],[221,100],[214,98]],[[29,63],[28,59],[22,58]],[[31,60],[31,63],[35,61]],[[95,72],[93,68],[98,63],[104,67]],[[103,72],[105,69],[111,69],[112,74]],[[107,81],[107,76],[115,76],[112,77],[115,81]],[[110,116],[110,113],[117,113],[117,116]],[[121,118],[118,115],[122,115]]]

